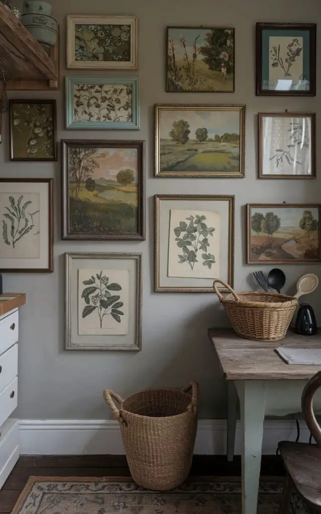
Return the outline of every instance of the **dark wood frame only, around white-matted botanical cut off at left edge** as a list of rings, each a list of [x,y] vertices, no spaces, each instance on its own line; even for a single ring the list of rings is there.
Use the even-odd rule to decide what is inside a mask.
[[[48,268],[1,268],[1,272],[15,273],[48,273],[53,271],[53,178],[0,178],[1,182],[33,182],[33,183],[47,183],[48,184]],[[0,261],[1,262],[1,261]]]

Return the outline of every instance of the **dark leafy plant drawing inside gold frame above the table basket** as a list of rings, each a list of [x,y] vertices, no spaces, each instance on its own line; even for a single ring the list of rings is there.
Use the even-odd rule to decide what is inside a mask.
[[[215,228],[207,227],[204,223],[206,216],[199,216],[192,214],[188,216],[188,224],[184,221],[179,222],[179,227],[175,227],[174,233],[176,235],[175,241],[177,246],[182,249],[183,253],[178,254],[179,264],[187,262],[191,269],[194,269],[194,265],[197,260],[197,252],[203,250],[202,259],[203,266],[207,266],[209,269],[212,268],[212,264],[215,263],[215,256],[212,253],[207,253],[207,247],[210,246],[208,235],[213,237]]]

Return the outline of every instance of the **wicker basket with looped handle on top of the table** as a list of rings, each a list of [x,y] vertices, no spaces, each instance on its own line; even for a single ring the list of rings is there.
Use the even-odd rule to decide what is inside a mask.
[[[223,298],[217,284],[230,294]],[[236,293],[221,280],[214,280],[213,287],[238,336],[258,341],[278,341],[286,336],[297,298],[273,292]]]

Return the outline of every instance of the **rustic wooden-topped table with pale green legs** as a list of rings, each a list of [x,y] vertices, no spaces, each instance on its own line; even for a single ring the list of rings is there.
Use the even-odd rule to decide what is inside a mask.
[[[281,341],[253,341],[232,329],[209,329],[209,338],[228,380],[228,460],[233,460],[237,405],[242,430],[242,514],[256,514],[265,416],[301,412],[306,382],[321,369],[315,365],[286,364],[274,351],[321,347],[321,335],[298,336],[289,332]],[[321,397],[314,400],[320,409]]]

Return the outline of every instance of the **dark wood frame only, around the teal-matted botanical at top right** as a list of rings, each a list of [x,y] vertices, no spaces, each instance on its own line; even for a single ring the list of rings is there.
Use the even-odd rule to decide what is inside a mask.
[[[262,89],[262,32],[263,30],[309,30],[310,89],[276,91]],[[256,24],[256,95],[315,96],[316,95],[316,24],[315,23],[257,23]]]

